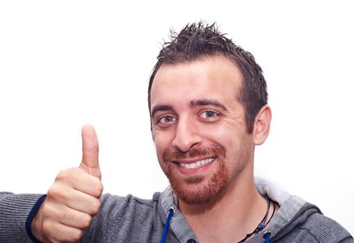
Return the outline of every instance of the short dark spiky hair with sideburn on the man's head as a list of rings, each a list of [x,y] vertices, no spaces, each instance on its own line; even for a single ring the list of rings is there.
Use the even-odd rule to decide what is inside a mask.
[[[193,62],[211,56],[224,56],[239,67],[243,76],[239,101],[245,109],[248,133],[253,131],[255,117],[262,106],[268,102],[266,81],[261,67],[248,51],[243,50],[220,33],[216,23],[204,22],[187,24],[179,33],[171,30],[170,41],[162,46],[157,62],[150,76],[148,102],[151,114],[150,92],[156,72],[163,64]]]

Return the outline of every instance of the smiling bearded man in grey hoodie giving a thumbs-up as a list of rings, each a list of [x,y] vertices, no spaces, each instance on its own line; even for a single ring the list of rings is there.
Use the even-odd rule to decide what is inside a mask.
[[[148,90],[171,186],[152,200],[101,195],[97,136],[84,126],[81,165],[61,171],[47,196],[1,194],[0,241],[353,242],[316,206],[255,181],[267,98],[250,53],[214,24],[187,25],[164,44]]]

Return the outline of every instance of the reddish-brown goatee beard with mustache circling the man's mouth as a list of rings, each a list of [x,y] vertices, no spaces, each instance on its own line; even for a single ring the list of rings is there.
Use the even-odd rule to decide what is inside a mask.
[[[177,171],[175,161],[195,157],[216,158],[217,168],[211,178],[206,178],[207,176],[183,176]],[[225,158],[225,147],[221,144],[192,148],[188,153],[168,149],[163,152],[163,163],[166,165],[164,172],[178,199],[188,205],[202,205],[220,198],[225,191],[229,178]]]

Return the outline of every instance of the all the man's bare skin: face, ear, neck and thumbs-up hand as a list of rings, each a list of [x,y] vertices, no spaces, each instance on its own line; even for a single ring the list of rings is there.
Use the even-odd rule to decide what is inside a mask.
[[[177,194],[179,210],[202,243],[238,242],[266,211],[253,182],[253,158],[255,145],[268,136],[271,109],[259,110],[253,132],[247,133],[243,106],[236,99],[241,82],[230,60],[211,56],[163,65],[152,85],[157,157],[170,181],[180,184],[179,193],[187,196]],[[58,174],[33,218],[32,231],[41,242],[77,242],[99,212],[103,186],[92,126],[83,126],[82,142],[81,164]],[[213,161],[198,169],[178,164],[205,158]],[[188,196],[198,200],[188,201]]]

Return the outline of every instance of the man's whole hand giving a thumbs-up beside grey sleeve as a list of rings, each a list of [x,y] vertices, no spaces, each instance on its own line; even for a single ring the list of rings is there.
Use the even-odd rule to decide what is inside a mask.
[[[31,228],[41,242],[77,242],[101,206],[103,191],[95,128],[82,128],[79,168],[59,172],[47,198],[33,218]]]

